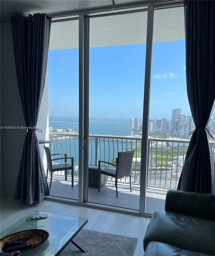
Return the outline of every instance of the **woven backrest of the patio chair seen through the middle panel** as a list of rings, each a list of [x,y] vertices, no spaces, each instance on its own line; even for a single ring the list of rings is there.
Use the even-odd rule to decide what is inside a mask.
[[[118,152],[117,179],[131,175],[131,167],[135,150]]]

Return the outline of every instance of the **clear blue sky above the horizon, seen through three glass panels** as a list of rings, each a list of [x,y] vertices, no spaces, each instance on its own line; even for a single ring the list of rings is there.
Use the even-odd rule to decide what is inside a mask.
[[[142,118],[145,45],[90,48],[89,116]],[[78,49],[50,50],[49,115],[78,116]],[[185,42],[153,44],[149,118],[190,115]]]

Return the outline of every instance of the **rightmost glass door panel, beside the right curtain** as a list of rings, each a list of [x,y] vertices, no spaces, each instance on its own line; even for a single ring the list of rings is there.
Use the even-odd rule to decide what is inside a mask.
[[[184,8],[154,10],[145,213],[164,210],[193,130],[185,75]]]

